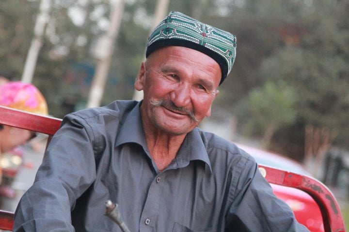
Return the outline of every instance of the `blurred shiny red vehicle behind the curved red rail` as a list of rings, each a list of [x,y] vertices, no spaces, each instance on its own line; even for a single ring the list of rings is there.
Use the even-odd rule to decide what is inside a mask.
[[[300,163],[285,156],[237,144],[238,147],[249,153],[258,164],[286,170],[288,172],[311,176]],[[321,211],[314,199],[296,188],[289,188],[271,184],[276,196],[285,201],[293,210],[296,219],[305,225],[311,232],[324,232]]]

